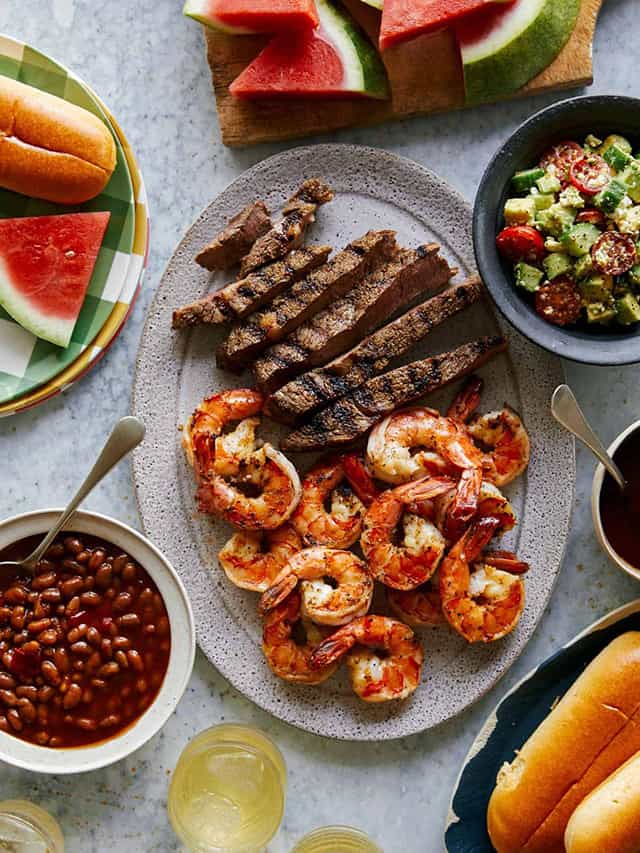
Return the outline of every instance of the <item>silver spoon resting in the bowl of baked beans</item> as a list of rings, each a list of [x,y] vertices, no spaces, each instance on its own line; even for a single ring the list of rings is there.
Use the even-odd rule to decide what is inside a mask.
[[[69,501],[67,508],[61,513],[60,517],[47,533],[42,542],[38,545],[35,551],[32,551],[28,557],[23,560],[7,560],[0,562],[0,573],[12,568],[14,571],[19,570],[21,574],[33,575],[36,563],[42,557],[49,545],[56,538],[58,533],[65,526],[69,518],[73,515],[78,505],[86,498],[89,492],[98,485],[114,465],[130,453],[134,447],[137,447],[144,438],[144,424],[138,418],[127,417],[121,418],[115,425],[113,432],[107,439],[107,443],[102,448],[100,456],[98,456],[95,465],[87,474],[85,481],[82,483],[76,494]]]

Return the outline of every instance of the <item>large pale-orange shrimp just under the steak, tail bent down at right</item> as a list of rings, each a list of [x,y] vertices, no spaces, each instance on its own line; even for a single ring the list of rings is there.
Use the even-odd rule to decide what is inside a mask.
[[[405,409],[381,421],[369,436],[367,462],[387,483],[415,480],[433,473],[435,465],[441,473],[459,477],[452,516],[469,521],[477,509],[483,455],[463,424],[434,409]]]

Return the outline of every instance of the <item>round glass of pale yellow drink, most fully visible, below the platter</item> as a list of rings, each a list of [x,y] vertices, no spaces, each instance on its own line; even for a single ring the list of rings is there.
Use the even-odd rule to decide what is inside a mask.
[[[282,754],[263,732],[214,726],[190,741],[178,760],[169,819],[193,853],[257,853],[280,826],[286,788]]]

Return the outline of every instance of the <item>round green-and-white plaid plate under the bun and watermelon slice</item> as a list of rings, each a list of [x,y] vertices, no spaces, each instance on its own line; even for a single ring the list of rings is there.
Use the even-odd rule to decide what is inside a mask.
[[[35,86],[97,115],[113,133],[92,92],[70,71],[33,48],[0,35],[0,74]],[[23,329],[0,308],[0,405],[33,391],[67,368],[88,346],[118,302],[127,279],[135,230],[135,195],[122,144],[114,133],[116,169],[104,192],[86,204],[57,205],[0,189],[0,218],[73,211],[111,213],[71,343],[62,349]]]

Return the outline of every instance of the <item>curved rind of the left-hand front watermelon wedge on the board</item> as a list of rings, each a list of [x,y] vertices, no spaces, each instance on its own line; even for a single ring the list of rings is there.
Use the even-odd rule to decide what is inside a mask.
[[[320,28],[342,60],[344,91],[388,98],[389,81],[384,64],[353,18],[328,0],[316,0],[316,8]]]

